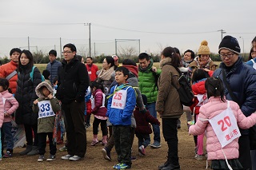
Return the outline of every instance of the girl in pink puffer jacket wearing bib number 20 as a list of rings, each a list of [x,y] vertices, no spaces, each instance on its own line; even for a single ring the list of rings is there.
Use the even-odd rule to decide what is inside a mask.
[[[218,77],[207,78],[205,87],[208,101],[199,109],[198,121],[189,132],[199,135],[206,130],[207,159],[212,169],[242,169],[238,160],[239,128],[255,125],[256,114],[245,117],[237,103],[227,101]]]

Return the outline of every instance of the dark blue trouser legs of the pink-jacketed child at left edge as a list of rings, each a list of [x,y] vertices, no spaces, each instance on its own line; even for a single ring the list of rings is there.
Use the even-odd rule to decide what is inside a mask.
[[[11,128],[12,128],[11,122],[6,122],[2,124],[2,129],[6,136],[6,142],[7,142],[6,150],[8,151],[13,151],[13,148],[14,148],[14,136],[11,134]]]

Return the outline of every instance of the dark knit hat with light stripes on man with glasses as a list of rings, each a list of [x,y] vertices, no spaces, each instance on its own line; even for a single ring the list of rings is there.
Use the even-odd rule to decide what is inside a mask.
[[[233,38],[230,35],[226,35],[222,39],[222,42],[218,45],[218,53],[221,49],[228,49],[234,53],[240,53],[241,51],[237,38]]]

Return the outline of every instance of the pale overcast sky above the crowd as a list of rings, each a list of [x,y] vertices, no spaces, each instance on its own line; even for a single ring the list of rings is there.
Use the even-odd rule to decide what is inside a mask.
[[[167,45],[198,51],[202,40],[217,53],[221,32],[238,39],[246,53],[256,36],[255,0],[0,0],[0,57],[10,49],[57,49],[60,42],[91,53],[114,54],[114,39],[139,39],[140,52],[160,53]],[[242,37],[242,38],[239,38]],[[62,41],[60,41],[62,38]],[[138,41],[118,42],[123,48]],[[120,49],[119,49],[120,50]],[[87,54],[86,54],[87,56]]]

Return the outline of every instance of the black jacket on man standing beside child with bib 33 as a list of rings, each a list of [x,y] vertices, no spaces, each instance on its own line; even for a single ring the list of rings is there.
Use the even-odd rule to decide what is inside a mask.
[[[89,86],[89,77],[86,65],[82,64],[76,57],[69,63],[62,61],[58,67],[58,89],[56,97],[63,104],[72,101],[85,101],[86,89]]]

